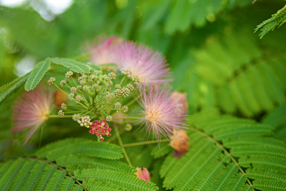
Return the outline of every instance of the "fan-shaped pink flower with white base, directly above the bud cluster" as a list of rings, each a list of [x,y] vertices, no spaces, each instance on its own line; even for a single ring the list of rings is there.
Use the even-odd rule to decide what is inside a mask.
[[[158,83],[171,81],[170,68],[165,58],[151,48],[132,41],[114,46],[121,72],[135,83]]]

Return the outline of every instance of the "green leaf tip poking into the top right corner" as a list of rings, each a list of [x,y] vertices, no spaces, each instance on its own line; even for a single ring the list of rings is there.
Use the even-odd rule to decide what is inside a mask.
[[[277,11],[277,13],[271,15],[272,18],[267,19],[266,21],[263,21],[260,25],[257,25],[257,28],[254,29],[256,32],[259,28],[263,27],[261,29],[261,33],[259,34],[260,39],[266,34],[268,33],[268,31],[270,30],[274,30],[275,27],[281,27],[281,25],[283,25],[283,23],[286,22],[286,5],[280,9],[279,11]]]

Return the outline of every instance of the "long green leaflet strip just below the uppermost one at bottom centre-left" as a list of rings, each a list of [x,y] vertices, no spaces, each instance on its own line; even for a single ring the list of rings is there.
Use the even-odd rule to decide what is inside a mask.
[[[100,168],[100,169],[108,169],[108,170],[116,170],[120,172],[132,173],[134,171],[134,167],[129,166],[123,162],[119,162],[116,160],[108,160],[101,159],[96,157],[89,157],[85,155],[67,155],[57,158],[56,160],[59,166],[67,166],[72,165],[74,170],[77,170],[77,167],[80,168]],[[69,166],[69,170],[71,170],[71,166]]]

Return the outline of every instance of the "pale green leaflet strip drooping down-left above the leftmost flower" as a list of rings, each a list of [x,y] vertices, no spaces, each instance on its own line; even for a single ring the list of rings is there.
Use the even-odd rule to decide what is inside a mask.
[[[29,76],[26,84],[25,84],[25,90],[33,90],[37,84],[40,82],[40,80],[43,78],[45,73],[48,71],[51,64],[51,60],[43,60],[39,62],[35,68],[31,71],[31,75]]]

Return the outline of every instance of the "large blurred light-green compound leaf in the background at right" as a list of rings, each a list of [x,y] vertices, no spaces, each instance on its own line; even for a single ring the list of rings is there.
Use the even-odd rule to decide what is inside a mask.
[[[199,76],[211,82],[215,105],[251,117],[286,101],[285,54],[276,54],[273,58],[242,33],[212,37],[194,56]]]

